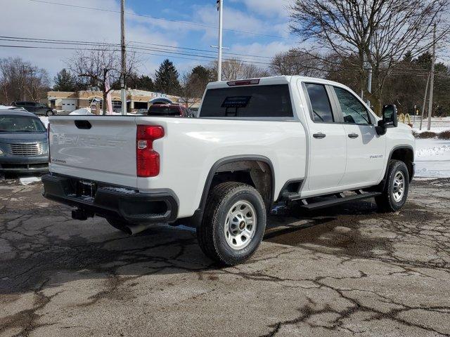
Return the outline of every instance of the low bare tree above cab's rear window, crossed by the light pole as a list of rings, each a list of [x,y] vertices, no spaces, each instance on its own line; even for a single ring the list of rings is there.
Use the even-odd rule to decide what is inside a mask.
[[[217,61],[212,62],[211,72],[217,78]],[[243,62],[238,58],[224,60],[222,63],[222,80],[230,81],[233,79],[252,79],[257,77],[270,76],[267,70],[249,62]]]

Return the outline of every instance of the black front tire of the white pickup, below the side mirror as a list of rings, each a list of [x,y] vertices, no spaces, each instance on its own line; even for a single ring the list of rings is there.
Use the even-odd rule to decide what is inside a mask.
[[[397,184],[394,183],[394,180],[396,180],[397,175],[403,176],[404,178],[404,191],[401,199],[398,199],[399,194],[394,196],[397,188]],[[406,164],[403,161],[391,160],[389,162],[389,165],[387,166],[387,178],[383,194],[381,194],[379,197],[375,197],[375,202],[378,206],[378,210],[381,212],[398,211],[405,204],[406,199],[408,198],[408,192],[409,172]]]

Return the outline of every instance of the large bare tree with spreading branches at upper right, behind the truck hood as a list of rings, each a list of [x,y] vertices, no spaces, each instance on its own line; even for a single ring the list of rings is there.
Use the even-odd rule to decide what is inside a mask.
[[[373,93],[378,110],[387,77],[407,51],[412,56],[433,44],[432,26],[437,24],[437,41],[450,32],[446,21],[450,0],[296,0],[291,29],[304,41],[312,41],[325,54],[356,60],[361,88],[366,94],[365,62],[373,67]],[[322,59],[325,60],[325,59]],[[328,58],[327,62],[335,62]]]

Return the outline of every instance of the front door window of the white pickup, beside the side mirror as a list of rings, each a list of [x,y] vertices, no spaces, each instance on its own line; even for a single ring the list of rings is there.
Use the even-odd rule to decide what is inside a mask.
[[[344,121],[348,124],[371,124],[371,117],[364,105],[349,91],[335,87]]]

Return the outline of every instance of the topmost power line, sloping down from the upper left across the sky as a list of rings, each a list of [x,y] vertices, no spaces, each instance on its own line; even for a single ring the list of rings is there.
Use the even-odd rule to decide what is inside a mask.
[[[103,12],[108,12],[108,13],[120,13],[120,11],[114,11],[113,9],[94,8],[94,7],[78,6],[78,5],[71,5],[71,4],[61,4],[59,2],[53,2],[53,1],[44,1],[44,0],[28,0],[28,1],[37,2],[37,3],[41,3],[41,4],[49,4],[49,5],[56,5],[56,6],[65,6],[65,7],[71,7],[71,8],[85,9],[85,10],[90,10],[90,11],[103,11]],[[174,19],[167,19],[167,18],[158,18],[158,17],[153,16],[153,15],[144,15],[144,14],[131,13],[131,12],[126,12],[126,14],[127,15],[131,15],[131,16],[139,16],[141,18],[150,18],[150,19],[153,19],[153,20],[162,20],[162,21],[167,21],[167,22],[176,22],[176,23],[181,23],[183,25],[193,25],[193,26],[198,26],[198,27],[217,29],[217,27],[212,26],[212,25],[205,25],[203,23],[192,22],[192,21],[174,20]],[[287,37],[280,37],[280,36],[277,36],[277,35],[262,34],[262,33],[257,33],[257,32],[248,32],[248,31],[240,30],[240,29],[224,28],[224,30],[226,30],[227,32],[235,32],[235,33],[241,33],[241,34],[257,35],[259,37],[270,37],[272,39],[285,39],[285,40],[289,39]]]

